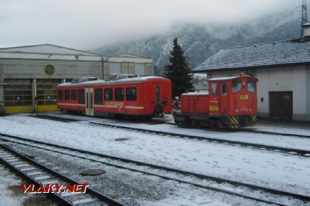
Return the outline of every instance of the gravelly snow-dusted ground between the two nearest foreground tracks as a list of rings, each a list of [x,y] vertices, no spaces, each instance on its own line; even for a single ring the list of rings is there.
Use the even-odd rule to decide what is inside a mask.
[[[11,144],[10,146],[19,151],[29,149],[29,147],[21,145]],[[140,172],[115,168],[103,163],[59,155],[56,152],[28,150],[27,154],[35,157],[35,160],[41,164],[53,168],[65,176],[70,176],[79,183],[90,184],[93,189],[103,192],[124,205],[267,205]],[[89,168],[103,169],[105,174],[99,176],[81,175],[81,171]]]

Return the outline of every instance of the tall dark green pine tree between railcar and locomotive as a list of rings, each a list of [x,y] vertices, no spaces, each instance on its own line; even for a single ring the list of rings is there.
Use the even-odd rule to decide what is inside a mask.
[[[174,38],[174,47],[170,51],[169,64],[165,66],[165,76],[172,81],[172,98],[180,97],[182,93],[193,91],[193,76],[187,65],[184,52],[178,45],[178,38]]]

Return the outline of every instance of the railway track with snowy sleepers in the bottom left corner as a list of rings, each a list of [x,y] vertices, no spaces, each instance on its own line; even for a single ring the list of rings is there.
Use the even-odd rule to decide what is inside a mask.
[[[78,184],[68,176],[47,168],[41,163],[22,155],[8,146],[0,144],[0,161],[19,174],[25,181],[39,187],[48,184]],[[62,205],[122,205],[104,194],[87,187],[85,193],[47,193]]]

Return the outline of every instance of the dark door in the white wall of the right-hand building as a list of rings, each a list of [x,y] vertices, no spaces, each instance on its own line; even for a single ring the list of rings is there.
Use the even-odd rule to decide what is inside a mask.
[[[270,91],[269,105],[270,118],[291,120],[293,116],[293,92]]]

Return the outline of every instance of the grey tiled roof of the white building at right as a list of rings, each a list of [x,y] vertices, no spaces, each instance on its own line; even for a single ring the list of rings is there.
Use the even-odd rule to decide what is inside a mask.
[[[277,67],[310,63],[310,41],[290,40],[222,49],[193,71]]]

